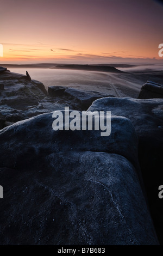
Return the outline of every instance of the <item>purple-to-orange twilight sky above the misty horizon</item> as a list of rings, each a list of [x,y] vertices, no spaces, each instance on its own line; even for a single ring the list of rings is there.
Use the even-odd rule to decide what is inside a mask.
[[[5,0],[0,63],[161,63],[154,0]]]

